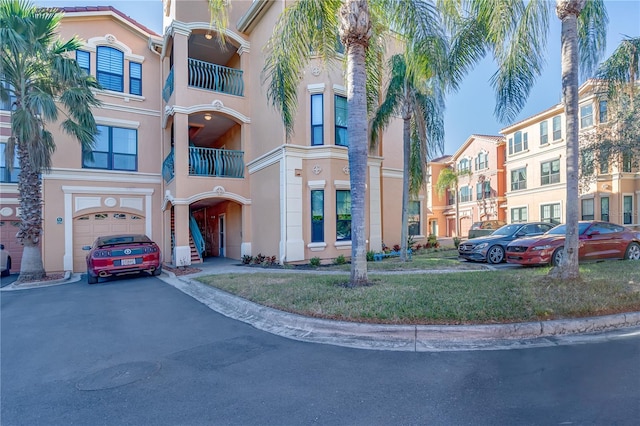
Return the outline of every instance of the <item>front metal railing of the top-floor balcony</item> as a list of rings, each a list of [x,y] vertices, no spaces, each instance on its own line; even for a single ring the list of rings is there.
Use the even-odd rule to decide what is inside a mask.
[[[189,59],[189,86],[243,96],[242,70]]]

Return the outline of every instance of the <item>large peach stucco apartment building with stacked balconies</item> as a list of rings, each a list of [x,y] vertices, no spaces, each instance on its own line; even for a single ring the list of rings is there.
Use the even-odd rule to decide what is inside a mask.
[[[47,271],[82,272],[82,246],[130,232],[158,242],[174,265],[259,253],[280,262],[350,255],[342,68],[310,62],[290,140],[261,83],[264,47],[286,3],[233,2],[225,46],[211,32],[205,0],[164,0],[162,35],[113,7],[61,9],[60,36],[84,41],[76,59],[103,90],[92,162],[50,126],[57,150],[42,176]],[[3,155],[9,110],[0,110]],[[392,122],[369,157],[369,250],[380,250],[383,239],[399,243],[401,134],[399,120]],[[0,179],[1,236],[14,269],[22,253],[17,173],[3,168]],[[428,234],[426,197],[410,211],[419,242]]]

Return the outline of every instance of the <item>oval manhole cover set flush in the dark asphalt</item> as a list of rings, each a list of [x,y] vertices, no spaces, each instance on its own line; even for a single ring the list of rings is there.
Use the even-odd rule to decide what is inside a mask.
[[[96,371],[76,384],[79,390],[91,391],[117,388],[153,376],[160,370],[159,362],[128,362]]]

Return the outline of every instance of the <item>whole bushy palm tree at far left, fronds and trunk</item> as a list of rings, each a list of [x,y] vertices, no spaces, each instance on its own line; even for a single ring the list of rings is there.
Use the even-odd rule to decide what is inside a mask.
[[[99,105],[94,78],[70,57],[80,42],[62,42],[57,28],[62,15],[24,0],[0,0],[0,96],[13,99],[7,167],[17,154],[20,165],[20,229],[24,246],[17,282],[43,278],[41,173],[51,168],[55,142],[48,123],[63,115],[61,128],[91,152],[97,133],[91,107]]]

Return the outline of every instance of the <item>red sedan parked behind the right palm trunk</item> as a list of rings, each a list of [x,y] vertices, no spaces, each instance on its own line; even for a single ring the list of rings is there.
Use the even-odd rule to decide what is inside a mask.
[[[507,245],[507,262],[521,265],[558,265],[564,255],[566,225],[558,225],[538,237]],[[578,259],[640,260],[640,232],[599,221],[578,223]]]

